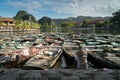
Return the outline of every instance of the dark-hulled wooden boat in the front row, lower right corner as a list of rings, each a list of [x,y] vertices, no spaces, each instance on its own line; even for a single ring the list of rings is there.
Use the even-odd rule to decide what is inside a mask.
[[[88,61],[91,62],[95,67],[97,68],[110,68],[110,69],[120,69],[120,63],[119,57],[116,57],[117,62],[114,62],[110,59],[105,57],[106,54],[104,53],[95,53],[95,52],[89,52],[88,53]],[[112,59],[113,57],[111,57]],[[119,59],[118,59],[119,58]],[[114,56],[115,59],[115,56]]]

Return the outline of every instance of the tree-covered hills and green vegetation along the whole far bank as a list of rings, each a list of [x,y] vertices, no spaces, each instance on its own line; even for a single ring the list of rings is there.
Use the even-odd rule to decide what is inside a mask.
[[[32,14],[26,11],[18,11],[14,16],[15,28],[30,29],[30,28],[55,28],[55,27],[95,27],[95,28],[110,28],[120,29],[120,10],[114,12],[111,17],[69,17],[65,19],[52,19],[44,16],[37,20]],[[0,25],[3,23],[0,22]]]

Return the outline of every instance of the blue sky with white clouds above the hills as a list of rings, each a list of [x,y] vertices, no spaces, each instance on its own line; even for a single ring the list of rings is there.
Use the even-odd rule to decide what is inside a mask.
[[[0,0],[0,16],[14,17],[25,10],[36,19],[43,16],[67,18],[77,16],[105,17],[120,9],[120,0]]]

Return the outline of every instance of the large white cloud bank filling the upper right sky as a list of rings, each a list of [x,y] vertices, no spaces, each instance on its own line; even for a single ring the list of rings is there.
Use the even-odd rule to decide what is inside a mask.
[[[51,10],[74,16],[110,16],[120,9],[119,0],[46,0]]]

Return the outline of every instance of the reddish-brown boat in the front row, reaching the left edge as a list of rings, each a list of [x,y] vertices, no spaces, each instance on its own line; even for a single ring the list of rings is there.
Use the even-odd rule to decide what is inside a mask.
[[[38,51],[46,48],[48,44],[41,43],[24,49],[6,49],[1,50],[0,66],[4,68],[19,67],[23,65],[29,58],[38,54]]]

